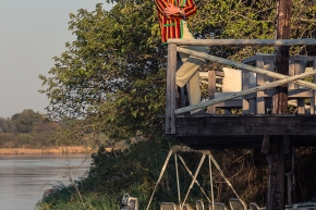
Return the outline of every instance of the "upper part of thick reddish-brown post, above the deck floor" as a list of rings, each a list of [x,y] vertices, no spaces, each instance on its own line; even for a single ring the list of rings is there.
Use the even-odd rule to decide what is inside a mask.
[[[276,39],[290,38],[290,22],[292,0],[277,0],[277,28]],[[289,75],[289,47],[276,47],[275,52],[275,72]],[[275,88],[274,95],[274,114],[287,114],[288,111],[288,84]]]

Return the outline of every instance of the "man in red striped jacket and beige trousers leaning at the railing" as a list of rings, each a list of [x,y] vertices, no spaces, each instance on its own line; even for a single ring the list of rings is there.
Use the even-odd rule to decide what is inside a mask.
[[[168,44],[169,38],[194,39],[189,20],[196,13],[193,0],[155,0],[155,3],[162,44]],[[207,52],[205,47],[186,46],[185,48]],[[180,57],[183,64],[177,71],[175,83],[179,87],[186,84],[190,104],[197,104],[200,101],[198,69],[204,60],[184,53],[180,53]]]

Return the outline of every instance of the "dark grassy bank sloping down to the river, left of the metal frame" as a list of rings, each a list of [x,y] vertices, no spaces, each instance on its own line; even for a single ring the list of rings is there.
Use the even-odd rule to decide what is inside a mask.
[[[132,144],[125,150],[100,147],[92,155],[92,168],[86,177],[73,181],[69,186],[52,186],[52,192],[38,202],[37,208],[116,210],[119,208],[117,200],[129,193],[138,199],[139,209],[145,209],[167,157],[167,141],[151,140]],[[169,175],[170,170],[166,170],[168,181],[174,182],[173,176]],[[166,176],[162,182],[167,183]],[[174,189],[169,184],[168,188],[168,193],[161,194],[166,186],[159,187],[150,210],[159,209],[160,200],[172,201],[170,193],[177,194],[173,194]]]

